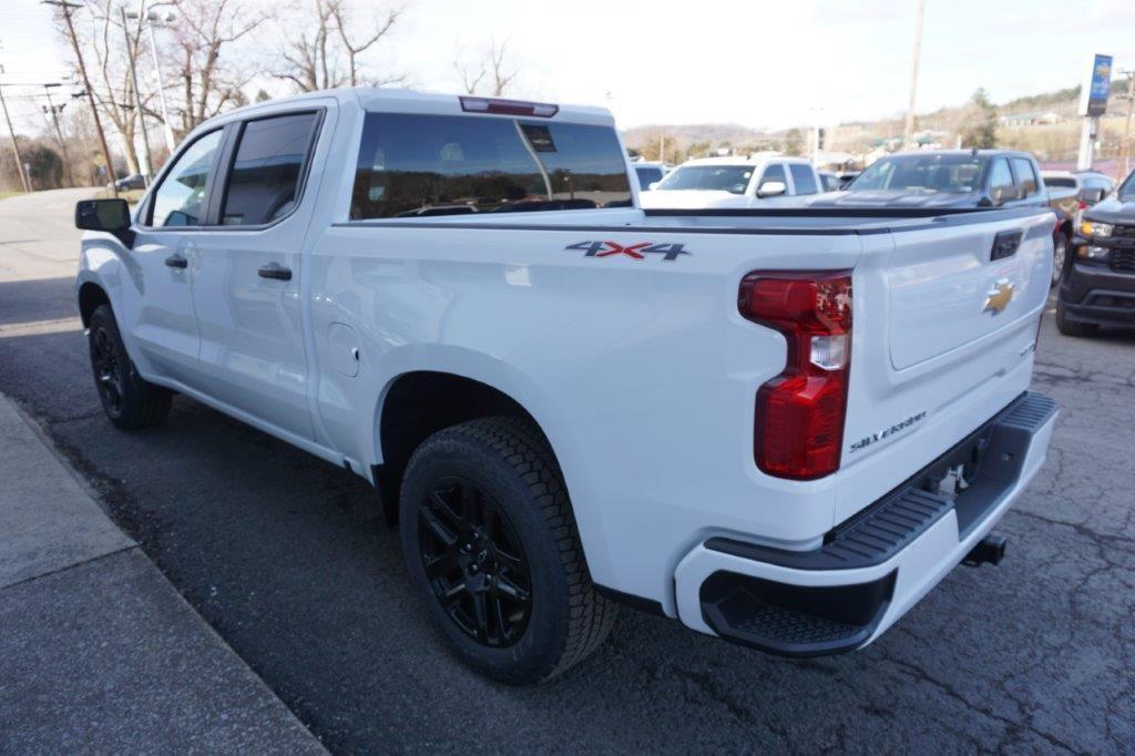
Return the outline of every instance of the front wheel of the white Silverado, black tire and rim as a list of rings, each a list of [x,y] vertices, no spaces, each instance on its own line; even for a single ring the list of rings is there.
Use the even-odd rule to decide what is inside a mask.
[[[169,413],[173,393],[142,379],[126,353],[109,304],[91,313],[87,345],[99,401],[110,421],[125,430],[158,425]]]

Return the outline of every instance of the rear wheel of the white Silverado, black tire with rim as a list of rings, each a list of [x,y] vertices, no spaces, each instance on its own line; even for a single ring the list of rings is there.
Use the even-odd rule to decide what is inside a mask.
[[[403,554],[446,645],[511,684],[543,682],[607,637],[552,448],[530,421],[494,417],[414,451],[400,501]]]

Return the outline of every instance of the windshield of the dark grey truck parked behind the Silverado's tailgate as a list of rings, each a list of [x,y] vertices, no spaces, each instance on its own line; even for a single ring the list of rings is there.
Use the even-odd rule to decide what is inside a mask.
[[[876,160],[848,190],[907,190],[969,194],[981,187],[985,158],[970,154],[905,154]]]

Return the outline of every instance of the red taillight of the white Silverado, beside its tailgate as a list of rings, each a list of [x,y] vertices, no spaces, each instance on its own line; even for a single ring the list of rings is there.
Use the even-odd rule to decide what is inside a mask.
[[[740,309],[788,342],[784,370],[757,392],[757,467],[797,480],[834,472],[851,366],[851,272],[751,272]]]

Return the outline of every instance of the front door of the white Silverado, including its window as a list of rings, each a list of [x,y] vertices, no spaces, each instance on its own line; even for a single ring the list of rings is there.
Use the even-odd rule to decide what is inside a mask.
[[[203,381],[186,249],[202,233],[222,142],[218,128],[182,150],[138,213],[134,245],[124,255],[138,294],[121,303],[129,311],[119,317],[131,324],[135,359],[143,372],[197,389]]]

